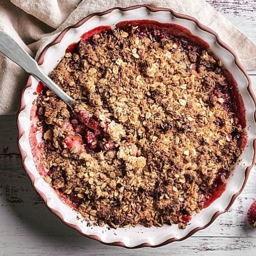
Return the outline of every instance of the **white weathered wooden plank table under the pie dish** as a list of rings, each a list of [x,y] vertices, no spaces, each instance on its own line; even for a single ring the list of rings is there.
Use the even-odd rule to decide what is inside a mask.
[[[255,0],[208,0],[256,42]],[[256,92],[256,70],[249,72]],[[0,117],[0,256],[67,255],[197,255],[256,256],[256,230],[246,212],[256,200],[256,168],[228,213],[189,239],[151,249],[110,247],[65,226],[44,205],[20,163],[16,117]]]

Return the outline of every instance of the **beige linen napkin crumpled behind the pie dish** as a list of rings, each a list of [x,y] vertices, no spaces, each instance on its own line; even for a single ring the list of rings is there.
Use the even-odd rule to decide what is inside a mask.
[[[38,58],[42,49],[65,27],[88,14],[139,4],[168,7],[195,17],[235,50],[247,70],[256,69],[256,45],[204,0],[3,0],[0,1],[0,29]],[[0,67],[0,115],[13,114],[19,108],[20,93],[28,75],[2,54]]]

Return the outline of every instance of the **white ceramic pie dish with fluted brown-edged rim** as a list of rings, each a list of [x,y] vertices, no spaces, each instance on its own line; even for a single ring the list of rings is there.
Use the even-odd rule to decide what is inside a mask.
[[[54,189],[44,181],[35,166],[35,161],[40,161],[40,159],[38,159],[37,154],[32,153],[29,133],[34,123],[35,107],[33,107],[33,103],[37,97],[34,92],[36,92],[38,81],[31,76],[22,93],[20,111],[17,117],[19,129],[18,146],[22,156],[22,164],[32,181],[34,189],[43,198],[47,207],[68,226],[77,229],[82,235],[98,240],[101,243],[128,248],[156,247],[183,240],[196,231],[206,228],[217,216],[227,211],[236,197],[242,192],[256,158],[256,101],[248,75],[238,62],[233,51],[222,43],[218,36],[209,28],[199,24],[195,19],[163,8],[135,6],[124,9],[114,8],[103,13],[91,14],[73,27],[65,29],[53,43],[46,47],[38,61],[40,67],[46,74],[50,74],[65,54],[66,48],[71,43],[79,41],[82,34],[102,25],[115,27],[115,24],[122,20],[157,20],[163,23],[175,23],[188,28],[193,35],[199,36],[209,44],[210,50],[217,58],[222,60],[225,68],[229,70],[236,80],[246,108],[248,142],[245,151],[240,156],[232,175],[227,181],[227,189],[222,196],[208,208],[203,209],[200,214],[192,216],[192,220],[186,229],[179,229],[177,225],[169,226],[166,224],[162,228],[137,226],[135,228],[108,230],[108,226],[88,227],[86,221],[81,221],[77,218],[80,214],[62,201]],[[37,135],[37,140],[39,145],[41,141],[40,134]],[[38,145],[33,145],[32,147],[38,148]]]

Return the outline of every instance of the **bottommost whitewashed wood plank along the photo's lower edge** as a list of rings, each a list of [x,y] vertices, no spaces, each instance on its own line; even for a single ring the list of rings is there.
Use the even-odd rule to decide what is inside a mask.
[[[124,249],[120,247],[109,247],[101,243],[90,241],[83,237],[63,237],[63,236],[40,236],[40,234],[31,234],[23,236],[21,240],[13,236],[1,238],[1,255],[47,255],[47,256],[184,256],[188,253],[196,256],[255,256],[256,243],[255,238],[233,238],[220,237],[197,238],[191,237],[182,242],[176,242],[166,245],[162,248],[143,248],[143,249]]]

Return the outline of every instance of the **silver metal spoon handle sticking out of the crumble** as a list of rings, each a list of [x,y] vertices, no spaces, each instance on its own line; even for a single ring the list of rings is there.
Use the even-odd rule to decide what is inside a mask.
[[[58,95],[71,109],[77,101],[68,96],[38,66],[37,62],[8,34],[0,30],[0,52],[22,67],[28,74],[42,81],[50,90]]]

